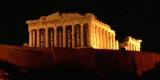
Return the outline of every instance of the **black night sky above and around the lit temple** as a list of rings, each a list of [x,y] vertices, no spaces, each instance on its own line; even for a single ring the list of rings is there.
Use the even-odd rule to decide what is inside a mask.
[[[5,0],[0,3],[0,44],[28,42],[26,20],[60,12],[91,12],[116,31],[143,40],[142,50],[160,52],[158,2],[153,0]]]

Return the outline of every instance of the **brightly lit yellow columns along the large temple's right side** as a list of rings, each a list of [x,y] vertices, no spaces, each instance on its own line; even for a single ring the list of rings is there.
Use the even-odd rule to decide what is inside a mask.
[[[115,40],[115,33],[111,30],[105,30],[94,26],[92,34],[93,46],[99,49],[118,49],[118,41]]]

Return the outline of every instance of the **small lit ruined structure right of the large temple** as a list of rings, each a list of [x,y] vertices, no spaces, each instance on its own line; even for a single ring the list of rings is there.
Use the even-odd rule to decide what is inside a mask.
[[[129,51],[140,51],[141,42],[142,42],[142,40],[140,40],[140,39],[134,39],[131,36],[128,36],[120,44],[120,47],[125,48],[126,50],[129,50]]]

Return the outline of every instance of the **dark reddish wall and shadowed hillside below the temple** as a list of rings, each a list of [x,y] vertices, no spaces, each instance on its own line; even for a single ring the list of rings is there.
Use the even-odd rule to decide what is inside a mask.
[[[145,79],[151,70],[159,70],[156,65],[160,63],[160,55],[123,50],[0,45],[0,62],[0,76],[7,72],[13,76],[9,77],[11,80],[18,80],[19,74],[23,80],[135,80]]]

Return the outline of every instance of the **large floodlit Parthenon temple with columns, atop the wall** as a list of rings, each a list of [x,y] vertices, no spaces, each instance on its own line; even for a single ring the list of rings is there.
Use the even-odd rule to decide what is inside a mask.
[[[30,47],[119,49],[115,31],[92,13],[56,12],[26,23]]]

